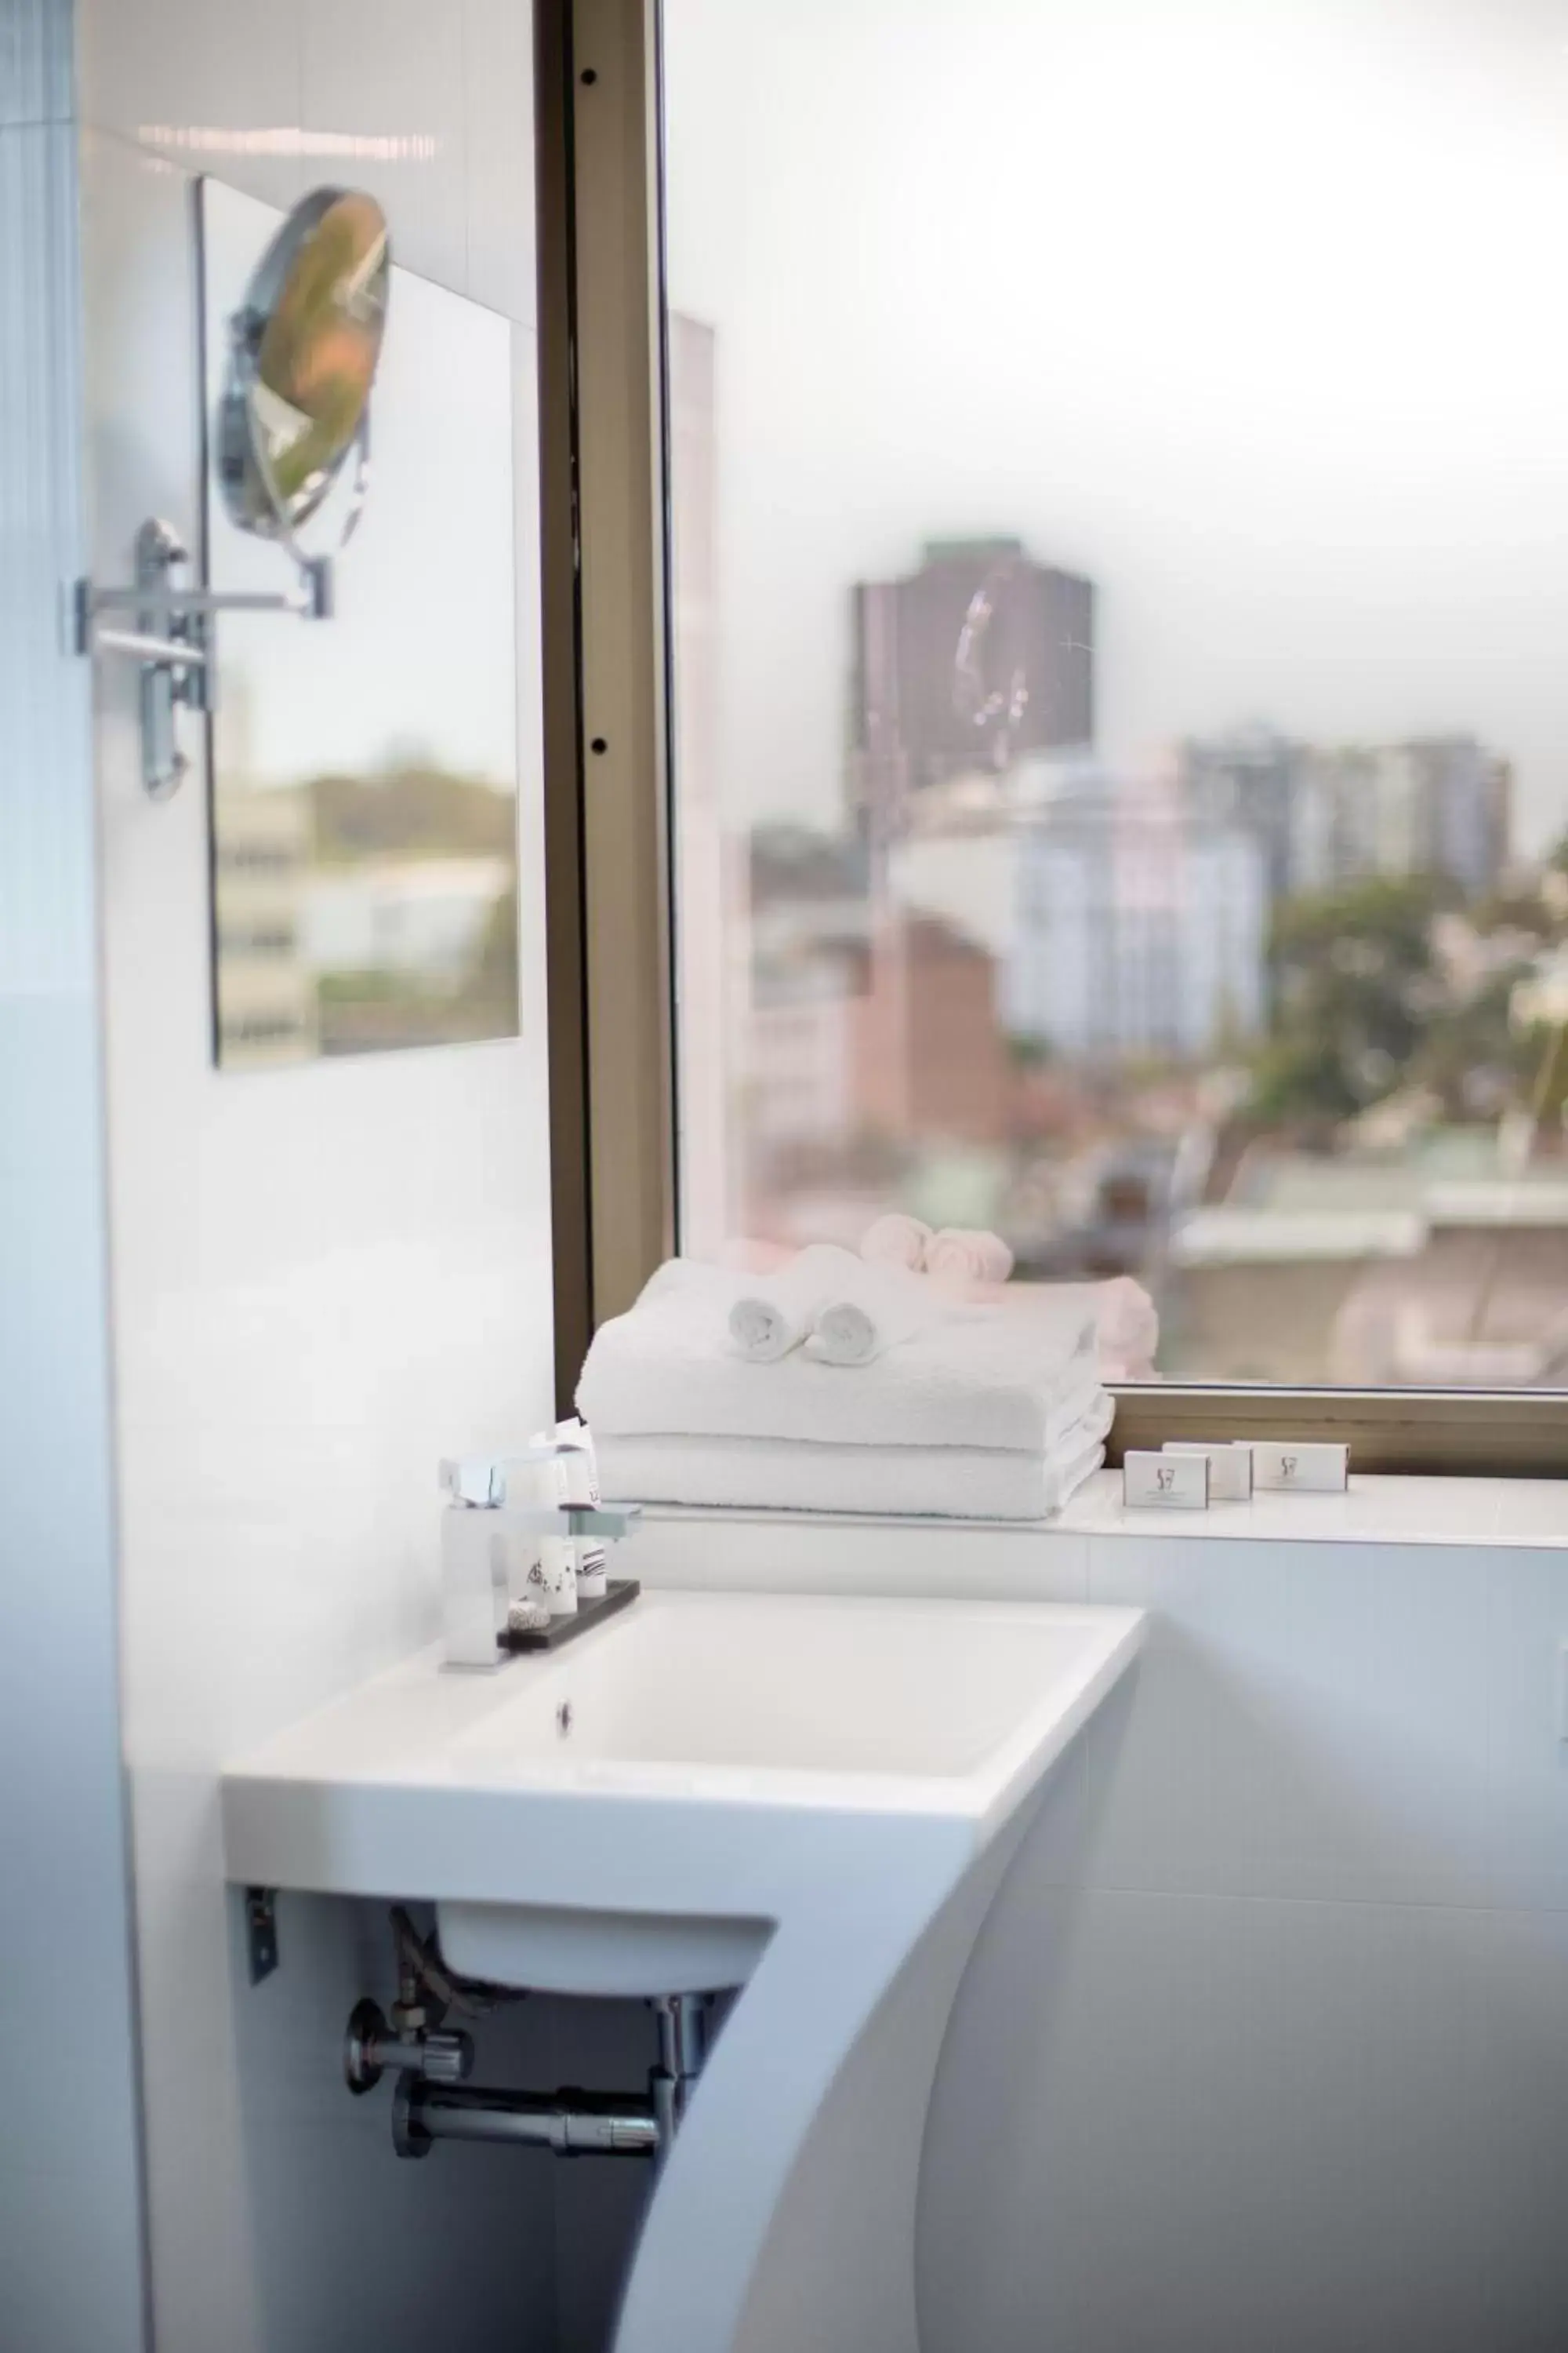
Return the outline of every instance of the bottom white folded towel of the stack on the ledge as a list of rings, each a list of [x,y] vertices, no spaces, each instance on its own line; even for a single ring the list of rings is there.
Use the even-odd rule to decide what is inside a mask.
[[[1046,1520],[1105,1461],[1100,1438],[1053,1459],[797,1438],[597,1438],[597,1449],[604,1494],[625,1504],[863,1511],[898,1520]]]

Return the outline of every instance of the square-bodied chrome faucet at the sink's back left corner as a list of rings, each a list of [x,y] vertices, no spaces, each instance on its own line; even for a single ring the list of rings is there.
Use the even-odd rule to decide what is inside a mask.
[[[569,1440],[522,1447],[517,1454],[458,1457],[440,1466],[442,1494],[442,1631],[447,1666],[494,1673],[505,1666],[517,1537],[597,1537],[618,1544],[637,1529],[637,1504],[510,1506],[512,1473],[536,1473],[541,1464],[576,1452]]]

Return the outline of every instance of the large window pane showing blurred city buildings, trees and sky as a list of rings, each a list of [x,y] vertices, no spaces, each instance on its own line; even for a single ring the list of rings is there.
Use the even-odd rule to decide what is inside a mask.
[[[1568,0],[668,0],[682,1233],[1568,1386]]]

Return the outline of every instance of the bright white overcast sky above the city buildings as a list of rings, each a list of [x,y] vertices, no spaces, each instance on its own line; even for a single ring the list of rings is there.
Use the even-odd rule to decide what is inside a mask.
[[[1011,534],[1114,767],[1458,729],[1568,828],[1568,0],[665,0],[665,94],[738,821],[842,807],[849,586]]]

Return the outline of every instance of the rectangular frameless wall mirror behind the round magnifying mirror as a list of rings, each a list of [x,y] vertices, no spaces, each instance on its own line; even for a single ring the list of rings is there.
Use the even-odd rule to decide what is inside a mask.
[[[334,200],[313,238],[336,235],[343,202],[362,200]],[[280,233],[270,205],[202,186],[219,405],[237,376],[228,322],[277,273],[296,221]],[[520,1028],[512,327],[390,268],[369,214],[355,214],[357,242],[334,245],[329,271],[317,271],[313,238],[282,268],[294,308],[273,304],[256,339],[263,426],[273,400],[306,419],[266,452],[282,501],[275,539],[292,544],[310,518],[313,539],[341,546],[360,492],[353,414],[378,362],[376,496],[327,628],[277,631],[242,612],[226,621],[212,720],[226,1071]],[[324,287],[348,292],[336,301]],[[397,325],[378,351],[388,299]],[[214,475],[214,586],[270,584],[275,544],[235,506],[223,456]]]

